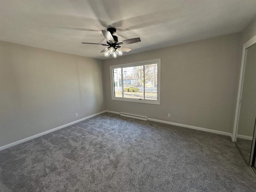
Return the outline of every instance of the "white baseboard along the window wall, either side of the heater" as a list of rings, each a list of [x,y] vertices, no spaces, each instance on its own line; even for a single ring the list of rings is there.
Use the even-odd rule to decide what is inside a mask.
[[[106,110],[106,112],[114,113],[114,114],[120,114],[119,112],[108,111],[108,110]],[[220,135],[226,135],[226,136],[230,136],[231,139],[232,139],[232,134],[228,133],[228,132],[217,131],[217,130],[212,130],[212,129],[206,129],[206,128],[196,127],[196,126],[191,126],[191,125],[184,125],[184,124],[180,124],[180,123],[174,123],[174,122],[163,121],[163,120],[152,119],[152,118],[148,118],[148,120],[149,121],[154,121],[154,122],[170,124],[170,125],[175,125],[175,126],[179,126],[179,127],[185,127],[185,128],[200,130],[200,131],[204,131],[204,132],[210,132],[210,133],[215,133],[215,134],[220,134]]]

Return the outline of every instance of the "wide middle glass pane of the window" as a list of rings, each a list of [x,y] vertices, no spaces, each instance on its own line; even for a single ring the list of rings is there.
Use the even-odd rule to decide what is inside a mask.
[[[144,99],[143,65],[123,68],[124,98]]]

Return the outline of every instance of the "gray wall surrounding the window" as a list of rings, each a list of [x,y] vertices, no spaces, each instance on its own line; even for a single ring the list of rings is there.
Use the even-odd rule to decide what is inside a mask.
[[[240,37],[228,34],[104,60],[106,110],[231,133]],[[156,58],[161,58],[161,105],[111,100],[109,66]]]

